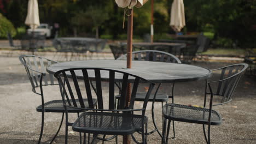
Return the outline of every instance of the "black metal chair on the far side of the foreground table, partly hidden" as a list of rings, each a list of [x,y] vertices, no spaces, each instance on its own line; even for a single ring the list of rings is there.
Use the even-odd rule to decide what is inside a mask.
[[[117,60],[126,60],[126,55],[123,55],[119,58],[117,58]],[[174,55],[172,55],[171,53],[168,52],[164,52],[164,51],[156,51],[156,50],[143,50],[143,51],[135,51],[132,52],[132,61],[153,61],[153,62],[169,62],[169,63],[181,63],[181,61]],[[159,83],[158,88],[161,86],[161,83]],[[158,88],[155,91],[155,94],[158,92]],[[149,101],[153,101],[152,104],[152,117],[153,117],[153,124],[156,128],[156,124],[154,121],[154,102],[161,102],[162,106],[163,103],[167,103],[168,98],[172,98],[172,103],[174,101],[174,83],[172,83],[172,94],[171,95],[167,95],[167,94],[152,94],[149,97]],[[118,101],[120,100],[120,94],[115,96],[116,99],[118,99]],[[137,93],[136,94],[136,101],[144,101],[145,100],[145,95],[143,93]],[[119,102],[118,102],[119,103]],[[160,132],[158,129],[155,129],[153,131],[150,131],[149,134],[154,133],[154,131],[158,131],[159,135]],[[173,130],[174,130],[174,122],[173,122]],[[175,138],[175,133],[173,138]]]

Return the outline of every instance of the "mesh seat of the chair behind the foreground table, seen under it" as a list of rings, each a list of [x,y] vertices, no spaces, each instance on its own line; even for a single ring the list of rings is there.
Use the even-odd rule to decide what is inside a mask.
[[[120,94],[115,95],[115,98],[120,99]],[[153,99],[154,99],[154,94],[149,96],[148,101],[153,101]],[[136,101],[144,101],[145,100],[145,94],[137,93],[136,97],[135,97],[135,100]],[[155,101],[156,102],[168,101],[168,95],[167,94],[156,94]]]

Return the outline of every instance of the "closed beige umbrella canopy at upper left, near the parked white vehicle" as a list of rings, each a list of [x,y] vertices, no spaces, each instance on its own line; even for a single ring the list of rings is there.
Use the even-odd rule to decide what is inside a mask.
[[[29,0],[27,6],[25,24],[30,26],[32,29],[35,29],[40,25],[37,0]]]

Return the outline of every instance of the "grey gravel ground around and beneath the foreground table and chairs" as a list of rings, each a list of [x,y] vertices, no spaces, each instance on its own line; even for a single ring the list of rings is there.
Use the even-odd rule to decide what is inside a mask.
[[[196,62],[194,65],[214,69],[230,62]],[[39,95],[31,91],[26,71],[18,57],[0,55],[0,143],[37,143],[40,131],[40,112],[36,106],[40,104]],[[204,81],[177,83],[175,103],[203,104]],[[56,90],[57,89],[57,90]],[[162,91],[168,85],[162,86]],[[256,143],[256,81],[253,77],[243,76],[229,104],[214,107],[223,116],[220,126],[211,127],[212,143]],[[45,87],[45,101],[60,99],[58,87]],[[150,117],[151,105],[148,105],[147,115]],[[155,105],[155,117],[161,128],[161,104]],[[72,117],[75,119],[75,115]],[[61,119],[60,113],[46,113],[42,143],[49,143],[54,136]],[[176,122],[176,140],[170,143],[205,143],[202,126]],[[149,129],[153,129],[149,119]],[[62,127],[54,143],[64,142],[65,129]],[[172,135],[172,132],[170,133]],[[139,135],[136,134],[138,137]],[[79,143],[78,134],[69,129],[69,143]],[[122,137],[119,136],[119,143]],[[160,143],[156,133],[148,136],[148,143]],[[100,142],[98,142],[100,143]],[[106,143],[114,143],[108,141]],[[131,142],[133,143],[133,142]]]

